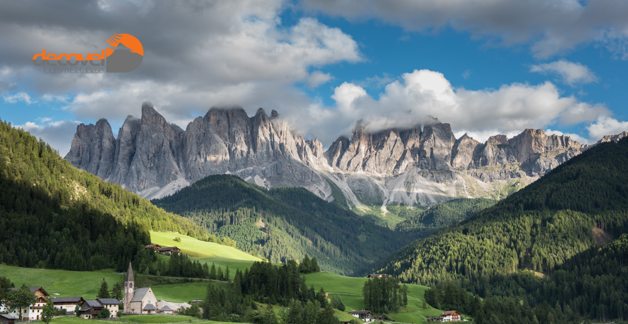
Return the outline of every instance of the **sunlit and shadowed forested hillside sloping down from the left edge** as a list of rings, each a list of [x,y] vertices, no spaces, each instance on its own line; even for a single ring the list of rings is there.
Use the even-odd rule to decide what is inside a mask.
[[[74,168],[50,145],[0,122],[0,262],[124,271],[150,244],[151,229],[207,236],[190,220]]]

